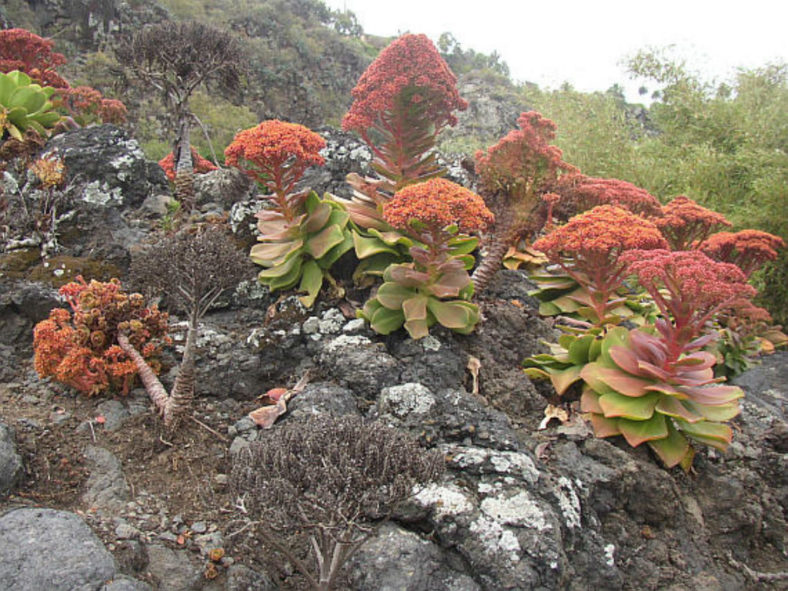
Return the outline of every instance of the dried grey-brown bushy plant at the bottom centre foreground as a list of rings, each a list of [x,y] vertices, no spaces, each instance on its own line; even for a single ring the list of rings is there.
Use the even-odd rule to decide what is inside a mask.
[[[233,458],[230,482],[264,541],[328,591],[375,528],[442,471],[439,453],[396,429],[318,416],[261,431]]]

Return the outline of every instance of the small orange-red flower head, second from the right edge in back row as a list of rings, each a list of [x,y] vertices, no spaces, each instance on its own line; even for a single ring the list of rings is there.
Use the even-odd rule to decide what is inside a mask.
[[[714,230],[731,225],[724,215],[706,209],[684,195],[665,205],[662,217],[655,223],[673,250],[700,248]]]

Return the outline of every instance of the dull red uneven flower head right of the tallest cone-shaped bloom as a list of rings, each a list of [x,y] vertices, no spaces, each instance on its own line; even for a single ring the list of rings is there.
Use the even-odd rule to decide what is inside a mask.
[[[520,115],[517,124],[520,129],[510,131],[486,153],[476,152],[476,172],[486,191],[517,198],[555,181],[559,171],[576,170],[562,160],[559,148],[550,145],[556,130],[550,119],[529,111]]]

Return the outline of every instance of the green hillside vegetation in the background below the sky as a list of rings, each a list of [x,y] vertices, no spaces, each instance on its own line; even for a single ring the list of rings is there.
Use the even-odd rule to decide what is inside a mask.
[[[69,57],[65,73],[105,95],[122,95],[130,124],[147,154],[171,149],[164,107],[150,89],[120,85],[117,39],[162,19],[195,19],[223,27],[242,40],[246,75],[241,88],[222,96],[210,88],[192,103],[204,132],[194,143],[205,156],[206,135],[222,153],[233,135],[260,120],[281,118],[309,127],[338,126],[350,90],[389,39],[365,34],[350,12],[320,0],[10,0],[3,26],[29,28],[56,39]],[[414,31],[417,32],[417,31]],[[788,67],[741,70],[728,83],[693,74],[681,59],[659,52],[634,56],[632,75],[658,90],[649,107],[627,104],[620,88],[584,93],[569,85],[542,89],[514,83],[495,53],[463,48],[445,33],[437,42],[470,102],[442,147],[472,153],[514,128],[534,109],[558,125],[557,145],[587,175],[630,181],[663,202],[684,194],[726,215],[736,228],[754,227],[788,239]],[[788,323],[788,259],[756,278],[763,301]]]

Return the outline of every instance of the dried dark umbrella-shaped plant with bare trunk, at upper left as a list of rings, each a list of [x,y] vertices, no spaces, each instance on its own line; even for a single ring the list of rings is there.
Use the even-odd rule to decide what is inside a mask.
[[[175,133],[176,196],[185,211],[194,205],[189,99],[197,88],[215,83],[222,90],[238,86],[242,74],[240,45],[228,32],[197,22],[146,27],[116,49],[127,71],[156,89],[168,109]]]

